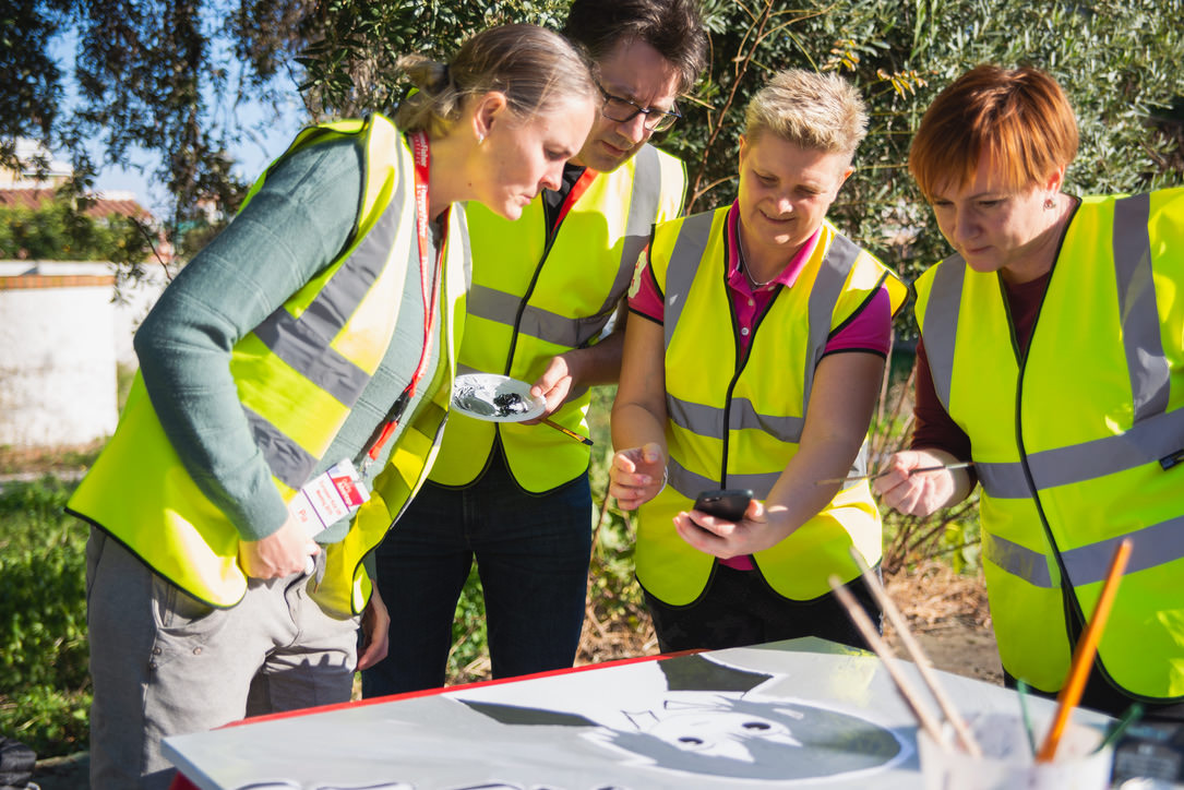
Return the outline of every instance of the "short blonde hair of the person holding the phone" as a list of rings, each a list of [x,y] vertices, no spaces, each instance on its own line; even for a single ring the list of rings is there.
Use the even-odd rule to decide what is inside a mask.
[[[773,75],[748,102],[745,137],[766,131],[796,146],[852,156],[868,134],[860,91],[836,73],[786,69]]]

